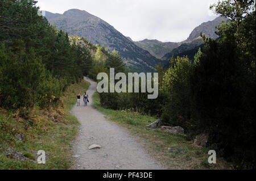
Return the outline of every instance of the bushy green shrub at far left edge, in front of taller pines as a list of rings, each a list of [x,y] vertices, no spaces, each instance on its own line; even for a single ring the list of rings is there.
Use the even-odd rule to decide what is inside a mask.
[[[21,43],[16,52],[1,45],[0,49],[0,107],[31,107],[36,102],[36,91],[46,72],[42,60],[30,49],[26,54]]]

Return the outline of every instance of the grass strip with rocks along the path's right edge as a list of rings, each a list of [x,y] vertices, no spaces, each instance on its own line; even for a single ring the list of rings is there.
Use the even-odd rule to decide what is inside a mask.
[[[156,121],[156,117],[129,110],[102,108],[98,92],[93,95],[93,107],[104,113],[108,120],[114,121],[137,137],[148,154],[166,169],[229,169],[222,158],[217,158],[217,164],[209,165],[208,149],[193,145],[183,135],[164,132],[159,128],[147,129],[146,125]]]

